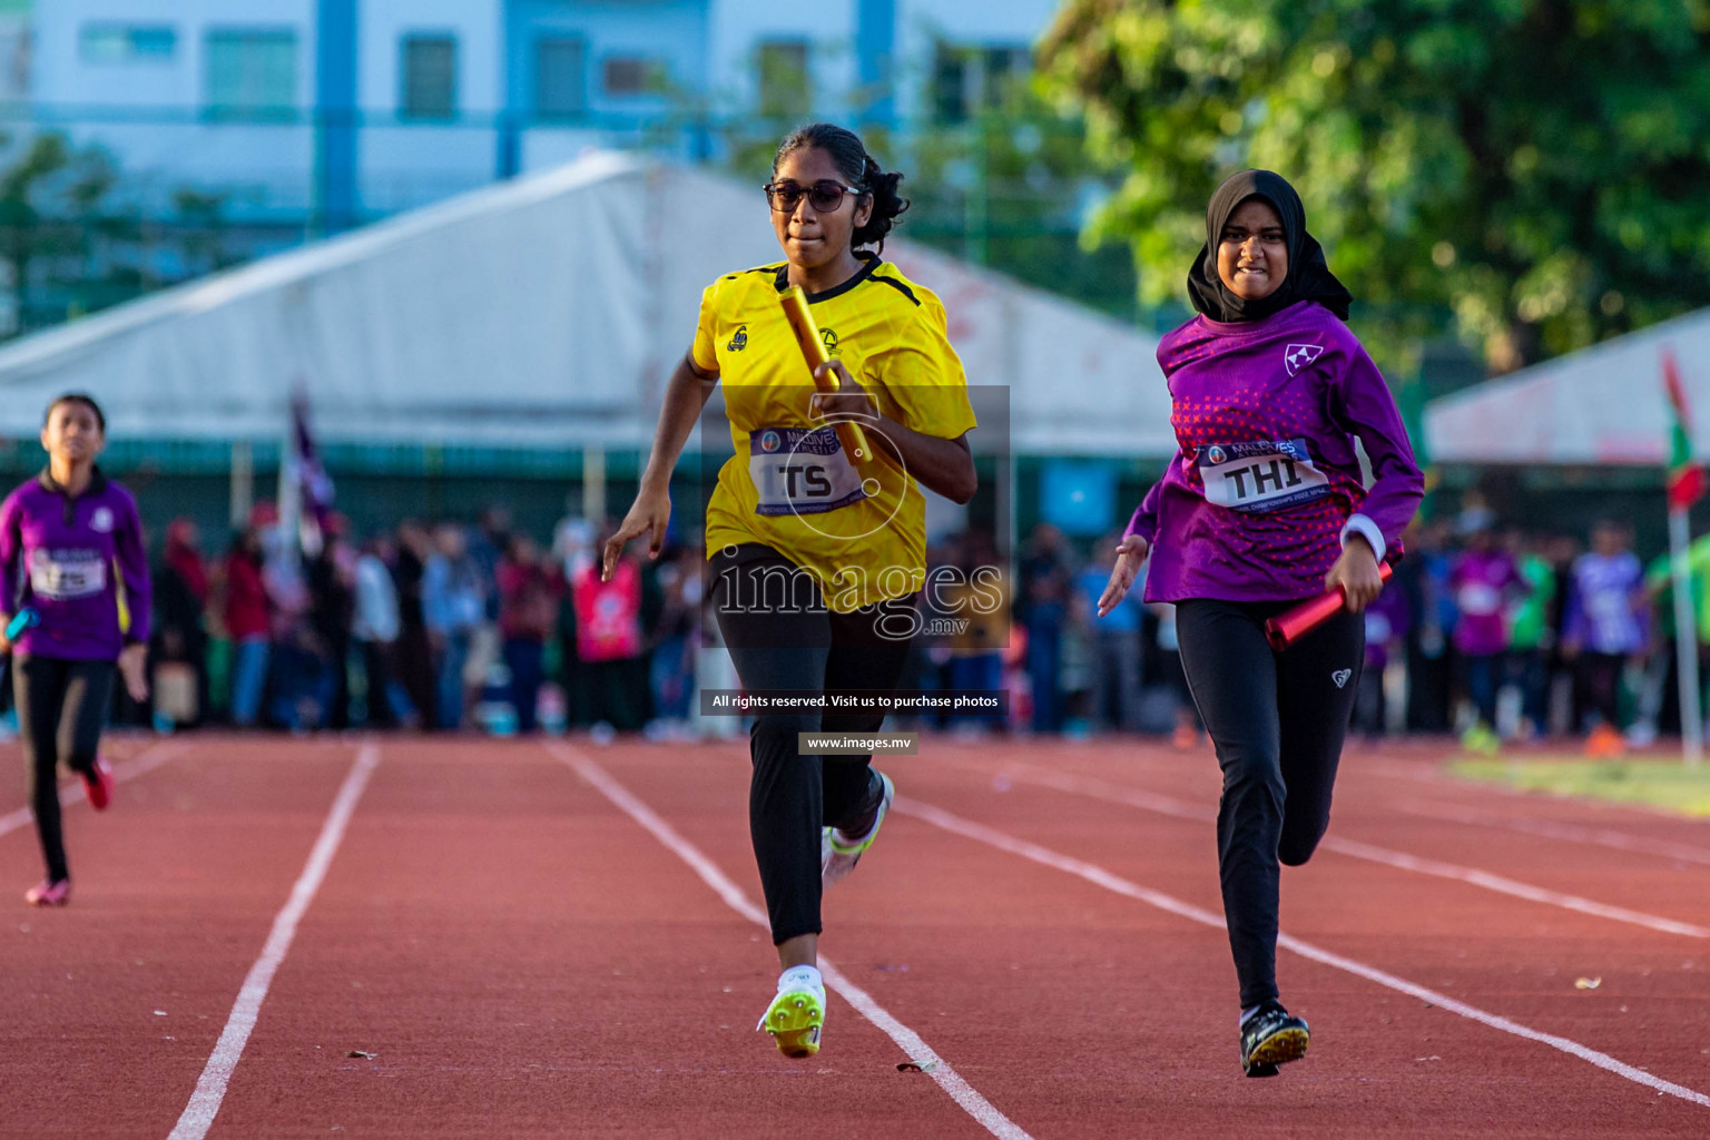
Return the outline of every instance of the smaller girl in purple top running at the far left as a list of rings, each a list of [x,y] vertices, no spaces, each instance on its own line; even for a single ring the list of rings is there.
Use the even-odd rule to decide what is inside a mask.
[[[96,467],[106,417],[86,395],[48,405],[48,470],[0,504],[0,649],[12,651],[19,737],[48,877],[24,896],[65,906],[72,873],[60,834],[58,764],[84,781],[97,812],[113,796],[101,730],[113,665],[135,701],[149,697],[149,562],[130,492]],[[15,639],[14,639],[15,636]]]

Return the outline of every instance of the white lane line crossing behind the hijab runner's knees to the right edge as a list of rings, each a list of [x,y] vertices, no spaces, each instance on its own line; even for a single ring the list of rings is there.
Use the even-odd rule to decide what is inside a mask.
[[[1151,791],[1141,791],[1137,788],[1106,783],[1091,776],[1070,776],[1067,773],[1041,769],[1033,764],[1005,764],[1004,771],[1014,779],[1023,779],[1031,784],[1041,784],[1045,788],[1069,791],[1072,795],[1084,795],[1094,800],[1125,803],[1158,815],[1192,820],[1218,819],[1218,812],[1214,808],[1199,807],[1197,803],[1187,803],[1183,800],[1171,800],[1170,796],[1153,795]],[[1336,851],[1337,855],[1366,860],[1368,863],[1382,863],[1385,867],[1412,872],[1416,875],[1431,875],[1433,879],[1448,879],[1452,882],[1467,884],[1469,887],[1495,890],[1496,894],[1525,899],[1527,902],[1556,906],[1578,914],[1606,918],[1609,921],[1626,923],[1628,926],[1643,926],[1647,930],[1655,930],[1666,935],[1681,935],[1686,938],[1710,938],[1710,928],[1707,926],[1696,926],[1693,923],[1683,923],[1659,914],[1647,914],[1645,911],[1633,911],[1624,906],[1609,906],[1607,902],[1595,902],[1594,899],[1583,899],[1577,894],[1563,894],[1561,890],[1549,890],[1548,887],[1536,887],[1529,882],[1508,879],[1507,875],[1479,870],[1477,867],[1460,867],[1459,863],[1430,860],[1418,855],[1407,855],[1406,851],[1392,851],[1371,843],[1361,843],[1358,839],[1344,839],[1341,836],[1325,836],[1318,846],[1325,851]]]

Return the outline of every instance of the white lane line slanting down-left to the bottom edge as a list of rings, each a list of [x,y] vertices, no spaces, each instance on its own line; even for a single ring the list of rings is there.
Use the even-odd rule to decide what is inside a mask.
[[[373,743],[363,745],[356,754],[356,762],[351,764],[349,774],[339,786],[339,795],[333,796],[332,808],[327,812],[327,822],[321,824],[320,837],[310,851],[310,860],[303,865],[303,873],[298,875],[296,885],[291,887],[291,897],[280,908],[277,918],[274,918],[274,930],[267,935],[262,955],[255,959],[250,976],[243,979],[238,1000],[231,1007],[231,1017],[226,1019],[226,1029],[221,1032],[219,1041],[214,1044],[214,1053],[209,1055],[209,1061],[202,1068],[202,1078],[197,1080],[197,1090],[190,1096],[190,1104],[185,1106],[185,1113],[178,1118],[178,1125],[168,1140],[202,1140],[202,1137],[209,1135],[209,1128],[214,1126],[219,1106],[226,1099],[226,1085],[231,1082],[231,1073],[238,1068],[238,1060],[243,1056],[243,1048],[250,1043],[250,1032],[262,1015],[262,1002],[267,1000],[267,990],[274,984],[274,974],[279,971],[280,962],[286,961],[286,954],[291,952],[291,940],[298,935],[298,923],[303,921],[303,914],[315,901],[315,892],[320,890],[321,880],[327,879],[327,868],[332,867],[333,855],[339,853],[339,844],[344,841],[344,829],[351,822],[356,802],[363,798],[363,790],[368,786],[368,778],[373,774],[376,764],[380,764],[380,747]]]

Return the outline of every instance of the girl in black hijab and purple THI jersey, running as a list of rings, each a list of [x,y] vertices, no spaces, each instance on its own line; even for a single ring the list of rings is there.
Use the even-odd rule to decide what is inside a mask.
[[[1154,552],[1146,600],[1176,603],[1182,668],[1223,767],[1218,865],[1241,1068],[1272,1077],[1308,1043],[1306,1022],[1277,1000],[1277,865],[1312,858],[1330,822],[1359,690],[1359,612],[1383,588],[1378,561],[1424,480],[1286,179],[1243,171],[1218,188],[1188,292],[1200,316],[1158,345],[1180,446],[1117,547],[1100,610]],[[1347,593],[1346,610],[1272,651],[1265,620],[1325,588]]]

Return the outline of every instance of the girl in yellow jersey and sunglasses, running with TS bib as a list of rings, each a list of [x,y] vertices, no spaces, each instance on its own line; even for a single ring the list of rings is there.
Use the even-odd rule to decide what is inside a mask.
[[[648,535],[657,557],[670,518],[670,472],[720,379],[735,456],[706,506],[718,626],[744,689],[889,690],[918,627],[925,579],[920,485],[966,502],[975,427],[944,306],[879,258],[908,209],[852,132],[814,123],[778,147],[766,183],[785,261],[713,282],[694,345],[672,373],[641,491],[607,542]],[[816,395],[778,294],[800,285],[831,361]],[[852,456],[831,424],[862,426]],[[872,843],[891,779],[870,755],[802,755],[804,732],[872,733],[884,714],[759,714],[749,829],[771,935],[778,995],[761,1029],[788,1056],[819,1051],[819,899]]]

